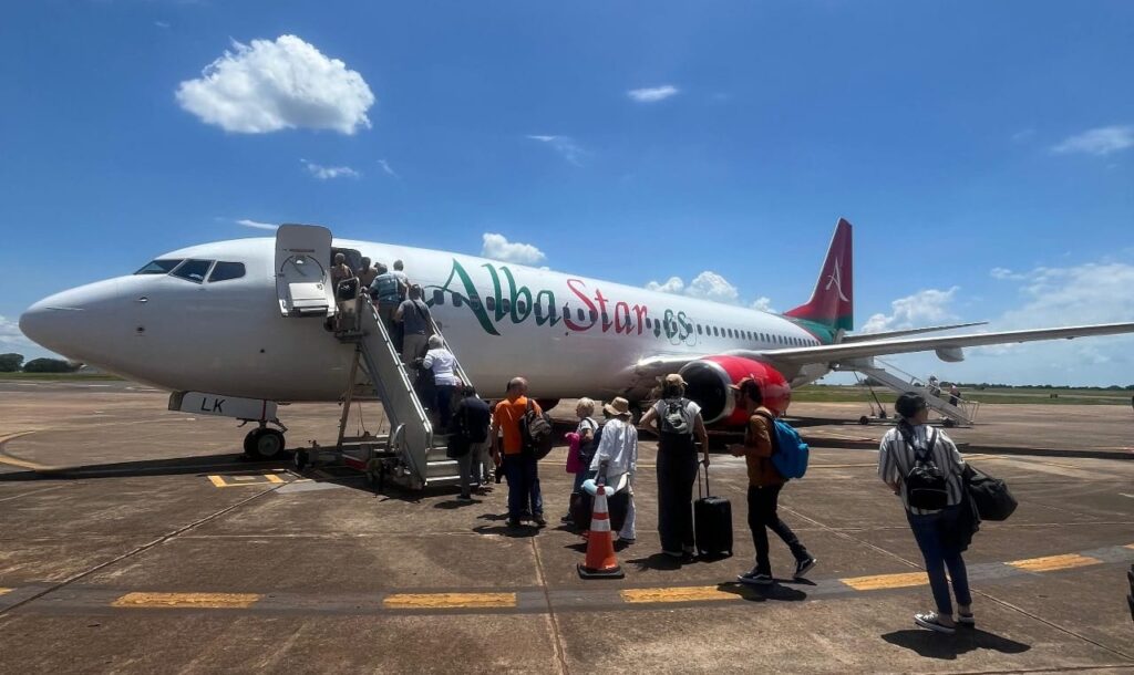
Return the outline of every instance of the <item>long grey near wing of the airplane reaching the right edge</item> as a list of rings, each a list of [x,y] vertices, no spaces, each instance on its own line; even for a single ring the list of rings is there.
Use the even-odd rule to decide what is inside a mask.
[[[793,365],[833,364],[849,359],[881,357],[914,351],[931,351],[936,349],[956,349],[962,347],[984,347],[989,344],[1009,344],[1014,342],[1032,342],[1035,340],[1073,340],[1092,335],[1118,335],[1134,333],[1134,323],[1094,324],[1088,326],[1065,326],[1061,328],[1032,328],[1026,331],[1002,331],[999,333],[973,333],[970,335],[945,335],[939,338],[909,338],[906,340],[870,340],[849,344],[824,344],[819,347],[794,347],[790,349],[771,349],[767,351],[733,351],[737,356],[763,358],[772,362]]]

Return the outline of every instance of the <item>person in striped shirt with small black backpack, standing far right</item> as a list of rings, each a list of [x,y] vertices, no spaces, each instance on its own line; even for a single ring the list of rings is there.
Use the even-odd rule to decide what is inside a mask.
[[[968,572],[960,557],[958,538],[953,536],[963,515],[965,461],[945,432],[925,424],[929,407],[924,396],[906,392],[898,396],[894,410],[902,420],[882,437],[878,475],[902,497],[906,519],[925,559],[925,573],[937,604],[936,613],[915,614],[914,623],[951,634],[958,623],[974,625]],[[956,621],[946,567],[957,596]]]

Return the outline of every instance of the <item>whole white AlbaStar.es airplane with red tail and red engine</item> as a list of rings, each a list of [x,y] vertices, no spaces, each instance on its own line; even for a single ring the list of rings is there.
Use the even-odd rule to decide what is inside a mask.
[[[355,268],[363,256],[404,260],[481,395],[501,398],[507,382],[523,375],[551,404],[618,395],[641,405],[659,377],[679,373],[705,422],[722,427],[745,421],[729,390],[742,377],[756,378],[765,403],[782,411],[792,387],[877,356],[936,351],[956,361],[966,347],[1134,332],[1134,323],[1114,323],[922,336],[974,325],[959,324],[850,335],[853,242],[845,219],[810,300],[781,315],[285,224],[274,238],[181,248],[134,274],[50,296],[20,316],[19,327],[49,350],[175,396],[230,396],[265,410],[340,401],[355,352],[328,334],[336,253]],[[262,417],[245,450],[271,459],[284,451],[284,437],[265,430]],[[257,443],[264,434],[274,436]]]

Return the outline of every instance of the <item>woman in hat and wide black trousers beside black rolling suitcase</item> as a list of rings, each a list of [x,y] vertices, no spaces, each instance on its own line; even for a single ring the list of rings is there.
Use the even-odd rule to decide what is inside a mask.
[[[709,465],[709,432],[701,407],[685,398],[685,379],[667,375],[661,400],[642,416],[642,426],[658,434],[658,533],[661,552],[675,558],[691,558],[693,547],[693,481],[697,477],[701,441]]]

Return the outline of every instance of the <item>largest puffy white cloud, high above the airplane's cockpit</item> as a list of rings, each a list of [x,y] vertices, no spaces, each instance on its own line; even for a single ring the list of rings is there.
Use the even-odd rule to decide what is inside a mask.
[[[374,94],[362,75],[324,57],[295,35],[276,42],[232,42],[232,51],[177,88],[177,101],[202,121],[226,131],[265,134],[280,129],[370,128]]]

